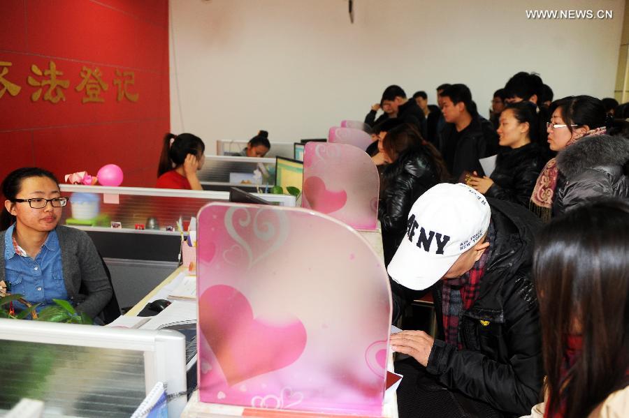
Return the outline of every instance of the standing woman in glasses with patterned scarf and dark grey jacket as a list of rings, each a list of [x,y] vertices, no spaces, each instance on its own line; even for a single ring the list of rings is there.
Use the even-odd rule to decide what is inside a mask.
[[[629,196],[623,165],[629,140],[605,135],[605,107],[591,96],[569,96],[551,104],[548,142],[558,151],[537,178],[530,209],[542,220],[560,216],[600,196]]]

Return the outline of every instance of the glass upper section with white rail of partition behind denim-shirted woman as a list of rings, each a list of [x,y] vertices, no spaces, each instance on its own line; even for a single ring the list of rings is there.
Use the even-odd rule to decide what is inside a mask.
[[[61,184],[70,198],[62,214],[62,225],[147,230],[175,227],[179,218],[189,221],[198,209],[213,201],[229,201],[229,192],[188,191],[165,188],[105,187]],[[254,193],[280,206],[295,206],[295,197]],[[112,224],[113,223],[113,224]],[[176,231],[173,233],[177,233]]]

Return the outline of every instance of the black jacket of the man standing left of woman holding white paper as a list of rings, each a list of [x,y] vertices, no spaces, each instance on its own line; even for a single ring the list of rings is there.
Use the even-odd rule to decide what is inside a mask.
[[[439,150],[446,156],[447,142],[456,132],[454,124],[445,124],[439,133]],[[459,138],[454,152],[454,161],[446,161],[449,172],[455,179],[463,172],[476,171],[480,176],[484,175],[479,158],[493,156],[498,153],[498,134],[493,129],[491,122],[483,117],[476,117],[465,128],[463,136]]]

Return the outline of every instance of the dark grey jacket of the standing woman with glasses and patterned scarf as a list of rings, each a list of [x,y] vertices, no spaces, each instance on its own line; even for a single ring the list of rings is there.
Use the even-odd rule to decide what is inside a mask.
[[[560,151],[553,216],[599,196],[628,198],[629,178],[623,171],[628,161],[629,140],[621,136],[584,137]]]

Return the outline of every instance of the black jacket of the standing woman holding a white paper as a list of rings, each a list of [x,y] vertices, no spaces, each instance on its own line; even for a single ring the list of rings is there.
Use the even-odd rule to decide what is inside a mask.
[[[530,195],[547,156],[538,144],[526,144],[516,149],[503,148],[496,157],[496,168],[491,173],[493,185],[486,197],[494,197],[528,207]]]

